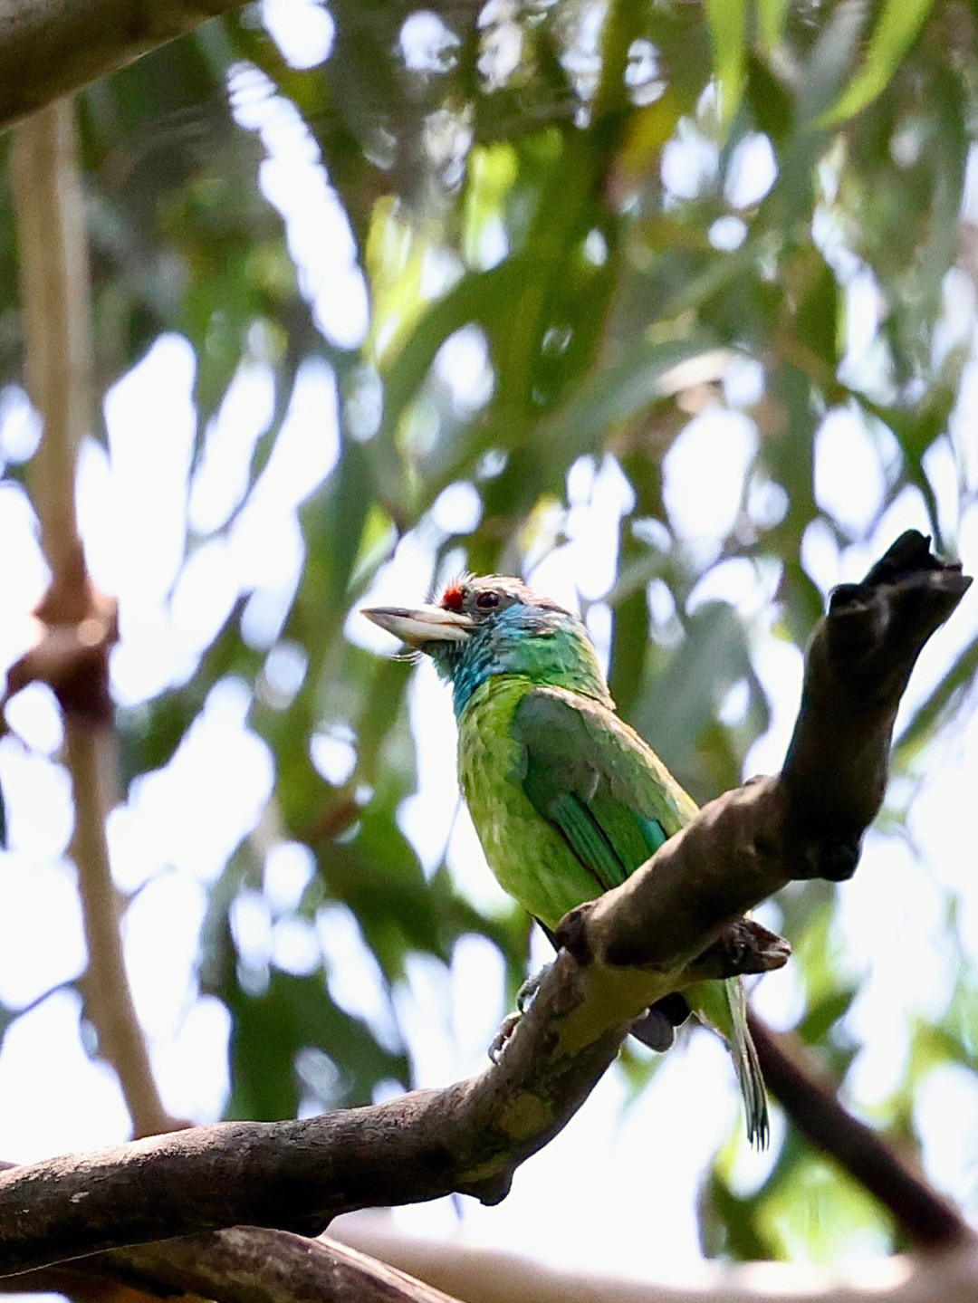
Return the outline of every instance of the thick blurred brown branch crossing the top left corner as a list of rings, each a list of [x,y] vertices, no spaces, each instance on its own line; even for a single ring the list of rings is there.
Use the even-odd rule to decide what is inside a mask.
[[[241,0],[0,0],[0,130]]]

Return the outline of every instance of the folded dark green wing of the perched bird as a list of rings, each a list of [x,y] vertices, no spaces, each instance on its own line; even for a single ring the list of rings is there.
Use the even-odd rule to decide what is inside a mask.
[[[606,706],[563,688],[529,692],[513,717],[522,787],[607,891],[695,813],[658,756]]]

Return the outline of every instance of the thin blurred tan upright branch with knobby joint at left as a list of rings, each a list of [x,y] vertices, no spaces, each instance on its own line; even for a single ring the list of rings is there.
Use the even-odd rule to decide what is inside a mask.
[[[78,447],[92,409],[92,366],[85,206],[70,100],[51,106],[17,130],[13,181],[27,388],[44,421],[29,481],[52,573],[34,612],[38,642],[12,666],[8,692],[43,680],[64,711],[74,797],[70,855],[89,951],[86,1014],[98,1033],[99,1053],[116,1070],[134,1132],[148,1135],[173,1122],[156,1091],[133,1007],[105,840],[105,816],[117,786],[108,692],[116,607],[89,579],[74,512]]]

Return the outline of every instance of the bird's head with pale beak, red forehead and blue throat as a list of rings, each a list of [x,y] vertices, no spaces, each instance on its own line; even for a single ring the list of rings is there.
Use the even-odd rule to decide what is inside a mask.
[[[497,674],[569,688],[613,705],[581,620],[518,579],[466,577],[449,584],[430,606],[385,606],[363,614],[431,657],[452,681],[457,715],[473,692]]]

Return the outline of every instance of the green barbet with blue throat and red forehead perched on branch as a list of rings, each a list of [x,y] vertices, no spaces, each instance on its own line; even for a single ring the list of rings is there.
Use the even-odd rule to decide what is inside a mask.
[[[616,714],[582,622],[520,580],[466,577],[438,603],[363,614],[451,681],[458,778],[486,859],[551,939],[568,909],[617,886],[697,813]],[[740,979],[698,982],[684,995],[727,1041],[747,1136],[763,1148],[767,1100]],[[647,1015],[651,1036],[642,1038],[656,1049],[688,1011],[676,1005],[667,997]]]

